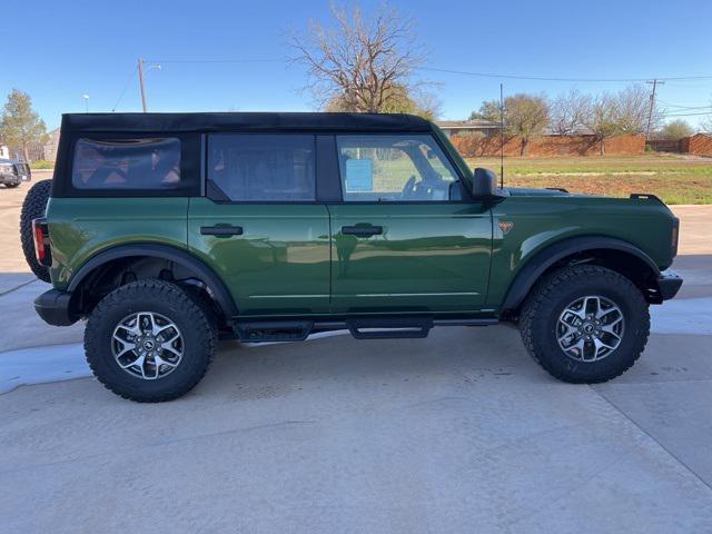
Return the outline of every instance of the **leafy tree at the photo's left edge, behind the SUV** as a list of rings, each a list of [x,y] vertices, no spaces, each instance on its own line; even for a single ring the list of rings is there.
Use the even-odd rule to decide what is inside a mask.
[[[32,110],[32,99],[27,92],[12,89],[2,111],[0,137],[11,147],[20,147],[26,161],[29,161],[29,147],[32,142],[47,142],[47,127],[40,116]]]

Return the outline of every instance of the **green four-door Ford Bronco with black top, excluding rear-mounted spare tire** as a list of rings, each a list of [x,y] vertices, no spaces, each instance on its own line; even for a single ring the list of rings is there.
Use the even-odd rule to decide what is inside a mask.
[[[66,115],[34,306],[87,318],[93,373],[139,402],[187,393],[220,337],[502,322],[556,378],[597,383],[682,285],[678,229],[652,195],[497,188],[413,116]]]

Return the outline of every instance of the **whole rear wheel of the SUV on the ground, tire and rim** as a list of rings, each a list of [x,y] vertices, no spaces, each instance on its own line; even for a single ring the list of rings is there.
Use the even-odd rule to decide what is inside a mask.
[[[217,332],[205,309],[175,284],[138,280],[107,295],[85,332],[87,362],[117,395],[171,400],[205,375]]]

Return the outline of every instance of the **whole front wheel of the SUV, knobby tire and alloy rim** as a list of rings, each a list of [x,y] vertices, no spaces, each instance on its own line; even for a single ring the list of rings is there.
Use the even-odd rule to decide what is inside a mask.
[[[530,355],[552,376],[575,384],[606,382],[627,370],[650,335],[647,303],[626,277],[578,265],[537,284],[521,315]]]

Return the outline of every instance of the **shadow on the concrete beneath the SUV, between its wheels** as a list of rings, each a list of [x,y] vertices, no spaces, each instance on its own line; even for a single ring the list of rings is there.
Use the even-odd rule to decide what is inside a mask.
[[[356,340],[349,334],[248,346],[222,342],[195,394],[234,399],[343,385],[478,382],[555,383],[528,357],[514,328],[435,328],[425,339]]]

